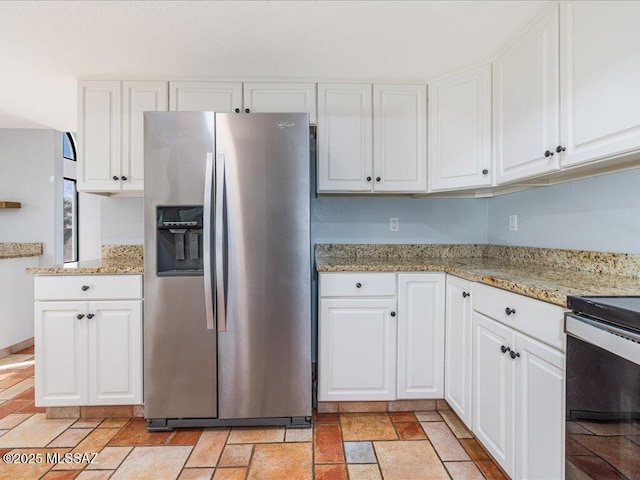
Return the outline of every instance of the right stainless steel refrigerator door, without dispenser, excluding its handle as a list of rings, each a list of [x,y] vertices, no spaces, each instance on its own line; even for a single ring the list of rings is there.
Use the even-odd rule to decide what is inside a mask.
[[[311,415],[309,118],[216,114],[225,158],[219,417]]]

